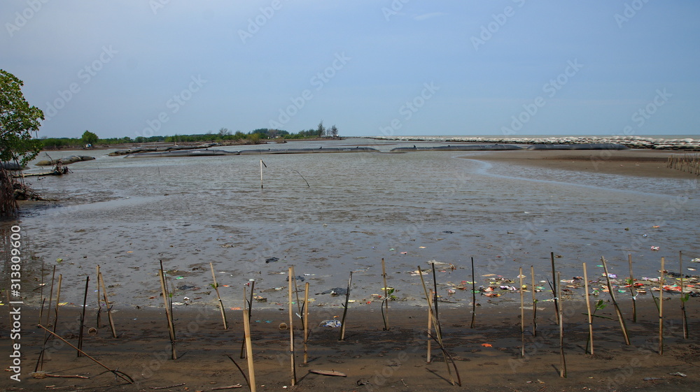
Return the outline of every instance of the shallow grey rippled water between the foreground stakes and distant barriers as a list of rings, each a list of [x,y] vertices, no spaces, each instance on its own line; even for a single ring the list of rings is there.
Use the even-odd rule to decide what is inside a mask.
[[[290,144],[374,144],[388,152],[414,143]],[[22,246],[34,256],[25,256],[26,267],[36,272],[41,261],[46,268],[57,265],[69,303],[82,301],[85,276],[94,281],[98,264],[117,307],[162,304],[160,260],[172,270],[175,288],[193,286],[176,289],[178,302],[188,296],[216,303],[211,262],[227,306],[242,305],[242,287],[252,278],[255,292],[268,298],[255,306],[274,307],[286,301],[286,289],[274,288],[286,287],[290,265],[311,284],[312,294],[319,293],[311,296],[317,305],[339,305],[342,296],[320,293],[345,287],[353,271],[351,298],[360,305],[384,286],[384,258],[388,286],[406,300],[395,304],[423,305],[423,287],[411,272],[430,268],[430,260],[457,268],[438,268],[438,290],[446,296],[447,282],[472,280],[470,257],[478,285],[481,275],[514,278],[520,266],[529,282],[531,265],[538,282],[545,280],[551,276],[550,252],[561,256],[555,260],[563,279],[582,275],[582,262],[589,276],[600,275],[601,256],[611,273],[626,276],[632,254],[638,277],[658,276],[661,256],[668,270],[678,270],[680,250],[686,265],[700,256],[698,188],[682,180],[486,163],[478,152],[155,159],[106,153],[96,151],[96,160],[71,165],[71,175],[29,181],[64,201],[23,212]],[[263,189],[261,158],[267,165]],[[265,263],[271,257],[279,261]],[[432,275],[426,280],[432,284]],[[468,305],[470,293],[449,299]]]

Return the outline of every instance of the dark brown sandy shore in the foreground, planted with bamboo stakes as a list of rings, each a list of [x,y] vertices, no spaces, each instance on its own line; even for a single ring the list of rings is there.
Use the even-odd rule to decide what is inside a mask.
[[[542,293],[544,294],[544,293]],[[540,298],[545,298],[543,295]],[[533,336],[531,307],[525,311],[525,357],[521,356],[520,310],[503,305],[498,310],[477,307],[475,328],[467,310],[440,309],[444,344],[454,360],[463,388],[470,391],[696,391],[700,382],[700,345],[682,339],[680,300],[666,301],[664,354],[659,355],[658,314],[651,298],[638,305],[638,322],[632,323],[629,301],[621,306],[629,328],[631,345],[624,344],[615,319],[594,321],[594,355],[586,353],[587,322],[584,304],[564,303],[566,310],[564,353],[566,378],[559,375],[561,358],[559,328],[552,303],[539,303],[537,335]],[[479,298],[479,302],[484,299]],[[0,315],[3,353],[10,352],[8,312]],[[57,332],[76,344],[78,307],[62,307]],[[96,312],[87,312],[87,327],[97,326]],[[612,306],[598,315],[615,317]],[[339,341],[339,328],[318,326],[324,319],[342,317],[338,309],[314,307],[309,315],[308,363],[304,365],[303,332],[295,319],[297,385],[291,386],[288,311],[255,310],[251,335],[255,380],[258,391],[455,391],[442,354],[433,344],[432,363],[426,363],[426,307],[389,310],[389,331],[383,331],[379,307],[374,311],[348,312],[346,337]],[[700,328],[700,312],[689,309],[691,337]],[[176,352],[173,361],[165,315],[161,310],[119,310],[114,319],[118,338],[111,336],[105,314],[97,333],[85,334],[83,349],[108,368],[134,379],[130,385],[90,361],[76,358],[76,351],[50,340],[43,371],[55,375],[83,375],[90,379],[34,379],[43,332],[34,327],[36,310],[22,313],[21,382],[5,372],[3,391],[213,391],[243,385],[246,380],[229,358],[244,371],[240,358],[243,338],[242,312],[229,311],[230,328],[223,330],[221,315],[210,307],[176,310]],[[87,328],[86,327],[86,328]],[[347,377],[311,374],[309,370],[335,370]],[[452,377],[456,380],[454,368]],[[678,373],[687,377],[682,377]]]

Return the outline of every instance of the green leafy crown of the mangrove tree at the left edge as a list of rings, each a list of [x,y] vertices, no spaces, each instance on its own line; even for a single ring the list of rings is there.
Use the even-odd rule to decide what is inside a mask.
[[[44,117],[41,109],[25,100],[23,85],[0,69],[0,161],[17,159],[25,166],[41,151],[41,142],[31,137],[31,131],[38,131]]]

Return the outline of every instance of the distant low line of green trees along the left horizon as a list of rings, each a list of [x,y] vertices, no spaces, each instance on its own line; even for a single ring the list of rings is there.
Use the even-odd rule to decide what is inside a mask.
[[[190,135],[173,136],[151,136],[145,138],[138,136],[130,138],[98,138],[96,133],[85,131],[80,138],[41,138],[41,146],[44,149],[59,149],[68,147],[85,147],[92,145],[117,145],[130,143],[240,143],[240,144],[258,144],[263,140],[285,140],[285,139],[307,139],[307,138],[338,138],[338,129],[335,125],[326,129],[323,122],[319,123],[316,129],[301,130],[296,133],[290,133],[283,129],[259,128],[253,129],[248,133],[236,131],[232,133],[226,128],[221,128],[214,133],[193,133]]]

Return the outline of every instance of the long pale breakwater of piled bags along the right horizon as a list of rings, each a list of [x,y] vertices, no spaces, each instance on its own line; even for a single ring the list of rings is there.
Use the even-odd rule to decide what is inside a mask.
[[[551,138],[509,138],[504,136],[374,136],[374,139],[400,141],[426,141],[451,143],[507,143],[507,144],[582,144],[615,143],[629,148],[651,150],[689,150],[700,151],[700,139],[663,139],[644,136],[563,136]]]

